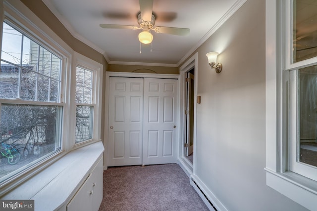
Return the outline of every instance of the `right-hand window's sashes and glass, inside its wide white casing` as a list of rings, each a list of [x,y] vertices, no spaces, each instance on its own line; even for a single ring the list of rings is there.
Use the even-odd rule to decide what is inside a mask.
[[[317,181],[317,0],[293,0],[290,6],[293,33],[287,36],[293,42],[286,51],[291,50],[292,56],[285,65],[293,128],[289,135],[290,170]]]

